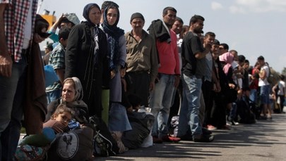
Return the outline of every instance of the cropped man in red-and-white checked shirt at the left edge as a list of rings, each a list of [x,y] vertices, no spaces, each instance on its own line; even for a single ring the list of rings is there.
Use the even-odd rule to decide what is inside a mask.
[[[0,160],[13,160],[20,137],[20,120],[23,117],[27,56],[31,53],[32,41],[37,44],[44,40],[39,32],[33,34],[36,11],[37,0],[0,2]],[[40,60],[39,62],[42,64]],[[33,65],[32,62],[30,64]],[[44,86],[37,88],[44,91]],[[25,117],[26,119],[28,118]],[[37,119],[34,121],[35,124],[42,123],[37,122]],[[40,127],[35,131],[39,132]]]

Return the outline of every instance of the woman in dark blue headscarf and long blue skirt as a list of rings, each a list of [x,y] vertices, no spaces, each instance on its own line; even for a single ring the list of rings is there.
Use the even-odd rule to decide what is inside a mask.
[[[111,108],[109,110],[109,130],[117,131],[122,134],[123,131],[131,130],[126,108],[121,104],[122,88],[120,68],[124,67],[126,61],[126,39],[124,30],[117,27],[119,22],[119,9],[111,5],[105,8],[103,13],[102,30],[107,35],[109,70],[110,70],[110,94],[109,100]],[[119,135],[120,136],[120,135]],[[117,139],[117,141],[121,139]],[[121,150],[124,152],[124,150]]]

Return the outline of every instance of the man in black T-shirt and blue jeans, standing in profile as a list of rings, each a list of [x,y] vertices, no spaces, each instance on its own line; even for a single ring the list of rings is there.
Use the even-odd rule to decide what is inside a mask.
[[[210,52],[211,44],[201,44],[198,37],[203,30],[201,15],[193,15],[190,20],[189,32],[184,37],[181,46],[183,102],[180,110],[178,136],[189,138],[188,124],[191,127],[192,139],[196,142],[213,141],[213,136],[205,135],[199,119],[201,86],[205,75],[205,56]]]

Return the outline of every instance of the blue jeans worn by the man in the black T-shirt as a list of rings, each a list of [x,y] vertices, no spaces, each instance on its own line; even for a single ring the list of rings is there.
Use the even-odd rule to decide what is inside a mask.
[[[179,114],[178,136],[186,135],[190,126],[193,137],[196,137],[202,134],[199,119],[202,79],[183,75],[182,80],[183,101]]]

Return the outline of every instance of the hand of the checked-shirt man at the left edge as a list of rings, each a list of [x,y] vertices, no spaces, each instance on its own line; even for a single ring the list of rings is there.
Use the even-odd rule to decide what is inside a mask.
[[[11,77],[12,65],[13,61],[8,53],[0,55],[0,75],[4,77]]]

